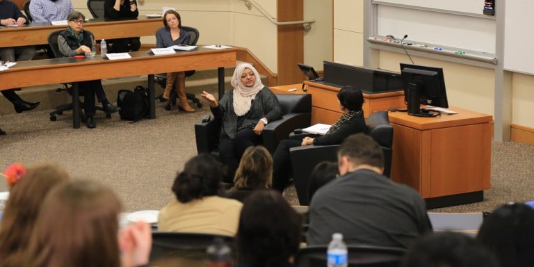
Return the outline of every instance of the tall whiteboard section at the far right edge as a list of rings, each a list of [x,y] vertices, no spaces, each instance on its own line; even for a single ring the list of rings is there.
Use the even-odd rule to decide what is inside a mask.
[[[534,74],[532,0],[505,1],[503,68]]]

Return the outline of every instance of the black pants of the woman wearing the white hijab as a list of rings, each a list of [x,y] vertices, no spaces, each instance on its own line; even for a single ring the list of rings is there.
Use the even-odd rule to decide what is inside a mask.
[[[261,145],[261,136],[254,133],[251,128],[239,130],[234,139],[227,137],[220,139],[219,158],[227,168],[225,182],[231,183],[234,181],[243,152],[254,145]]]

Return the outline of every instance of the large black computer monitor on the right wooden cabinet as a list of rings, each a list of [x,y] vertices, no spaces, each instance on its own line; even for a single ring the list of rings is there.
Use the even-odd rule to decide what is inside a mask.
[[[434,113],[421,110],[420,104],[448,108],[445,79],[441,67],[426,67],[401,63],[404,97],[408,114],[432,117]]]

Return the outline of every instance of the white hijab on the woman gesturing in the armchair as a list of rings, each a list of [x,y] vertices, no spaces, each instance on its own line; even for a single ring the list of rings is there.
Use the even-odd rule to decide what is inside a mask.
[[[256,76],[256,82],[252,87],[243,86],[243,83],[241,83],[241,74],[245,69],[252,70],[254,76]],[[250,111],[252,99],[256,97],[261,88],[264,88],[264,85],[261,83],[258,71],[250,63],[246,62],[239,63],[236,66],[230,84],[234,86],[234,112],[238,116],[243,116]]]

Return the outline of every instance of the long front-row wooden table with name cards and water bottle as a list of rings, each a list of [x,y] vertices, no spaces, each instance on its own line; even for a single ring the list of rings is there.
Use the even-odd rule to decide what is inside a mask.
[[[225,92],[224,67],[236,65],[239,48],[178,51],[177,54],[154,56],[147,51],[131,52],[131,58],[120,60],[95,58],[54,58],[21,61],[9,70],[0,72],[0,90],[70,83],[95,79],[119,78],[148,74],[149,115],[156,118],[154,104],[154,74],[218,68],[219,97]],[[80,127],[79,92],[72,93],[73,127]]]

